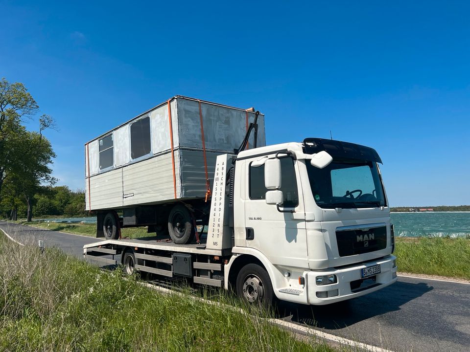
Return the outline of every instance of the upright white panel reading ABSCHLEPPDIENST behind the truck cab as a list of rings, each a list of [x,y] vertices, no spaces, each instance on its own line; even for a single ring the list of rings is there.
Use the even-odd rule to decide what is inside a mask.
[[[207,249],[223,249],[230,246],[231,233],[226,226],[227,207],[225,195],[225,182],[227,176],[227,154],[217,156],[212,186],[211,215],[209,218],[209,231],[207,233]],[[225,226],[224,226],[225,225]]]

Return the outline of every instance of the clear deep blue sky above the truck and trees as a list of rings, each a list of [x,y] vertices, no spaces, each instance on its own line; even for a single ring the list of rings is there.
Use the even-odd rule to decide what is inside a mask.
[[[22,82],[59,184],[83,145],[173,95],[266,116],[266,142],[375,148],[392,206],[470,204],[466,1],[1,1],[0,76]],[[36,129],[37,118],[28,122]]]

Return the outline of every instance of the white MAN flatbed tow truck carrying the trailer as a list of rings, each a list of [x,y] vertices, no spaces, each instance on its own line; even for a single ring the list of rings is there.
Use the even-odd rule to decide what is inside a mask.
[[[264,305],[276,298],[326,305],[393,284],[393,225],[376,151],[321,138],[243,150],[257,117],[240,149],[218,155],[210,166],[211,195],[202,212],[208,217],[198,225],[192,215],[197,205],[171,205],[170,235],[189,228],[195,241],[191,236],[178,244],[158,231],[141,239],[111,238],[85,245],[85,258],[118,264],[120,255],[129,274],[140,270],[232,288]],[[133,224],[138,213],[130,216]],[[111,228],[101,220],[98,233],[119,233],[129,223],[123,214]]]

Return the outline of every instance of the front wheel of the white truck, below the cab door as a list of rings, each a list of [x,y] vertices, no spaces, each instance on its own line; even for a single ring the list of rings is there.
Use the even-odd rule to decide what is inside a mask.
[[[268,272],[258,264],[243,266],[236,278],[236,294],[245,303],[269,308],[275,300]]]

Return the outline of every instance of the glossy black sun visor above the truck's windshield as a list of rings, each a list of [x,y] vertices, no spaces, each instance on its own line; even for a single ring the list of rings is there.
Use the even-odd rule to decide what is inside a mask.
[[[334,159],[359,159],[375,161],[382,164],[382,159],[375,149],[361,146],[359,144],[341,142],[323,138],[305,138],[305,154],[315,154],[325,151]]]

